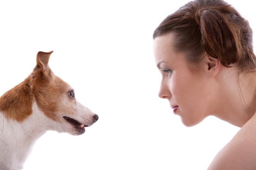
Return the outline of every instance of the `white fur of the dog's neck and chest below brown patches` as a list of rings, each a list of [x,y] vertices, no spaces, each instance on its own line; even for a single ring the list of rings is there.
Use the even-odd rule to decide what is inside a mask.
[[[34,143],[47,130],[56,130],[56,123],[38,109],[35,101],[32,114],[22,122],[7,119],[0,112],[0,169],[22,169]]]

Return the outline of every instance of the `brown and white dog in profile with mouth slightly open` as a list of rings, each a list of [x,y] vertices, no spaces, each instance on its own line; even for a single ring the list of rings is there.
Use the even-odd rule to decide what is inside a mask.
[[[34,143],[46,131],[81,135],[99,118],[53,74],[48,65],[52,52],[39,51],[33,72],[0,97],[0,170],[23,169]]]

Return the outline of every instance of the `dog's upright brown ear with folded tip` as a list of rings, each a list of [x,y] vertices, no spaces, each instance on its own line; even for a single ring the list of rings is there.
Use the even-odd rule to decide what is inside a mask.
[[[53,51],[37,53],[37,66],[34,68],[34,72],[39,73],[37,77],[40,77],[43,83],[49,83],[52,80],[52,70],[50,69],[48,62],[50,55]]]

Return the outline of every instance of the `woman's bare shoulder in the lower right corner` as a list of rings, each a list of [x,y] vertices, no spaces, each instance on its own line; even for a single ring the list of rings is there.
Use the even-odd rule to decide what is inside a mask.
[[[256,114],[213,159],[208,170],[256,169]]]

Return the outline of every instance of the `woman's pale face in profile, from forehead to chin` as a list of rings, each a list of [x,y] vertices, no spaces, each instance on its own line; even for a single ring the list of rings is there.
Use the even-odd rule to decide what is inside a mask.
[[[154,56],[162,74],[159,97],[169,100],[174,114],[185,126],[193,126],[207,116],[210,97],[207,76],[200,73],[200,64],[188,63],[185,53],[173,50],[172,33],[154,39]],[[192,71],[192,68],[197,71]]]

